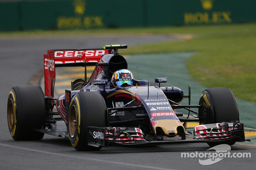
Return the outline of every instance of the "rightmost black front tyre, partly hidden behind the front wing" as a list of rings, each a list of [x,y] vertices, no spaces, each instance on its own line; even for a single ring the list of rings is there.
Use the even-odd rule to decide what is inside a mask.
[[[234,94],[226,87],[214,87],[204,90],[202,93],[199,105],[211,105],[214,110],[214,119],[208,123],[220,123],[230,121],[240,121],[238,105]],[[202,108],[199,108],[199,115],[204,117]],[[208,119],[209,120],[209,119]],[[200,123],[204,123],[200,122]],[[229,144],[233,145],[236,142],[216,142],[207,143],[213,147],[218,144]]]

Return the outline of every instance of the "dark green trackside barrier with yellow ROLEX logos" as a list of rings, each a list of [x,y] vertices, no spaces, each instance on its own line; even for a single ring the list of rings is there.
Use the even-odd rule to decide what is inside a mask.
[[[0,31],[256,21],[256,0],[0,1]]]

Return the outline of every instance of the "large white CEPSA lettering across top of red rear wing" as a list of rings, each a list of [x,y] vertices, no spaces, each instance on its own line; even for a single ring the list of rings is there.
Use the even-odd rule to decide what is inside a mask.
[[[85,57],[98,57],[105,54],[105,50],[86,50]],[[81,51],[55,51],[54,57],[80,57]]]

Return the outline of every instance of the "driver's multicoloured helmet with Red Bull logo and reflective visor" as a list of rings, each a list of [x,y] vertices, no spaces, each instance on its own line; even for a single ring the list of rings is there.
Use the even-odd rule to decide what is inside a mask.
[[[131,86],[134,82],[132,72],[126,69],[120,69],[113,73],[111,83],[116,86]]]

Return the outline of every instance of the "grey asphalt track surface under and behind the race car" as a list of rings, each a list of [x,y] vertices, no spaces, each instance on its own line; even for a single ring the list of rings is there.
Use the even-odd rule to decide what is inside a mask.
[[[224,158],[216,164],[202,166],[198,163],[199,158],[181,158],[181,153],[206,152],[210,148],[207,144],[111,146],[97,152],[78,152],[69,140],[50,135],[39,141],[12,139],[6,114],[8,94],[13,86],[28,85],[43,69],[43,54],[47,49],[102,48],[108,44],[127,44],[129,47],[175,39],[171,36],[0,38],[0,169],[254,169],[256,152],[253,146],[234,145],[230,151],[250,152],[251,158]]]

